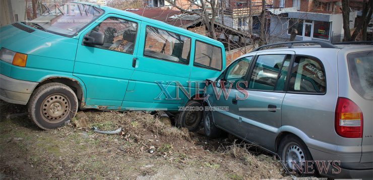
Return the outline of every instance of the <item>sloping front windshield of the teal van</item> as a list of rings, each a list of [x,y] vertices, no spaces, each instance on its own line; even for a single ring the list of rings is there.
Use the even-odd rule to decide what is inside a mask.
[[[64,6],[48,5],[40,17],[26,22],[42,31],[72,37],[103,14],[103,10],[96,6],[78,3],[67,3]]]

